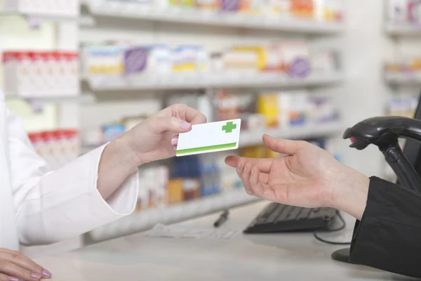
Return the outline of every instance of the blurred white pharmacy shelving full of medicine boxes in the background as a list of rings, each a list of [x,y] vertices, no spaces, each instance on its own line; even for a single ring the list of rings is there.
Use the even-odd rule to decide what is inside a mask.
[[[310,141],[364,174],[383,176],[379,152],[349,150],[342,132],[384,115],[385,104],[387,114],[407,115],[413,100],[406,97],[420,84],[412,59],[418,27],[392,13],[404,1],[27,2],[0,5],[0,88],[54,167],[167,105],[186,103],[209,121],[242,119],[236,154],[278,156],[262,146],[268,133]],[[135,214],[86,237],[98,242],[255,200],[225,156],[140,167]],[[26,250],[81,243],[77,237]]]

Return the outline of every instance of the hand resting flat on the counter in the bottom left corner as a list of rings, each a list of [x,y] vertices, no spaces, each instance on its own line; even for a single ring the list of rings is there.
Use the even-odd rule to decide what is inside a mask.
[[[51,273],[20,254],[0,248],[0,281],[36,281],[50,279]]]

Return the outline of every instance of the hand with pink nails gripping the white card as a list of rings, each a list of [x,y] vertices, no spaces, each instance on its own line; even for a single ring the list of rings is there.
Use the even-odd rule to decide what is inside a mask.
[[[192,125],[206,123],[206,117],[186,105],[171,105],[138,124],[124,136],[137,164],[175,156],[178,134],[190,131]]]

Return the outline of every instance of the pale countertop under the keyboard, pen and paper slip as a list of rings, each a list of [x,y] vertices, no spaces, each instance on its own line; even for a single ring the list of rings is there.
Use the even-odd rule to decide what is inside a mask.
[[[243,230],[268,204],[257,202],[231,209],[221,230]],[[214,229],[220,214],[177,226]],[[354,220],[345,216],[342,233],[321,234],[330,240],[350,241]],[[343,246],[318,242],[312,233],[239,234],[232,239],[175,239],[128,235],[35,261],[53,273],[53,280],[415,280],[365,266],[340,263],[330,254]]]

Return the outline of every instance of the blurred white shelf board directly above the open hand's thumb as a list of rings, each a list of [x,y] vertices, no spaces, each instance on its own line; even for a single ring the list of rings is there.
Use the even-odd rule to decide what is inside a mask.
[[[324,124],[310,124],[304,126],[295,126],[288,129],[266,129],[262,131],[241,132],[240,146],[247,147],[251,145],[262,144],[262,136],[267,134],[274,138],[287,138],[291,140],[303,140],[306,138],[317,138],[333,136],[343,133],[345,127],[340,121],[326,122]]]

